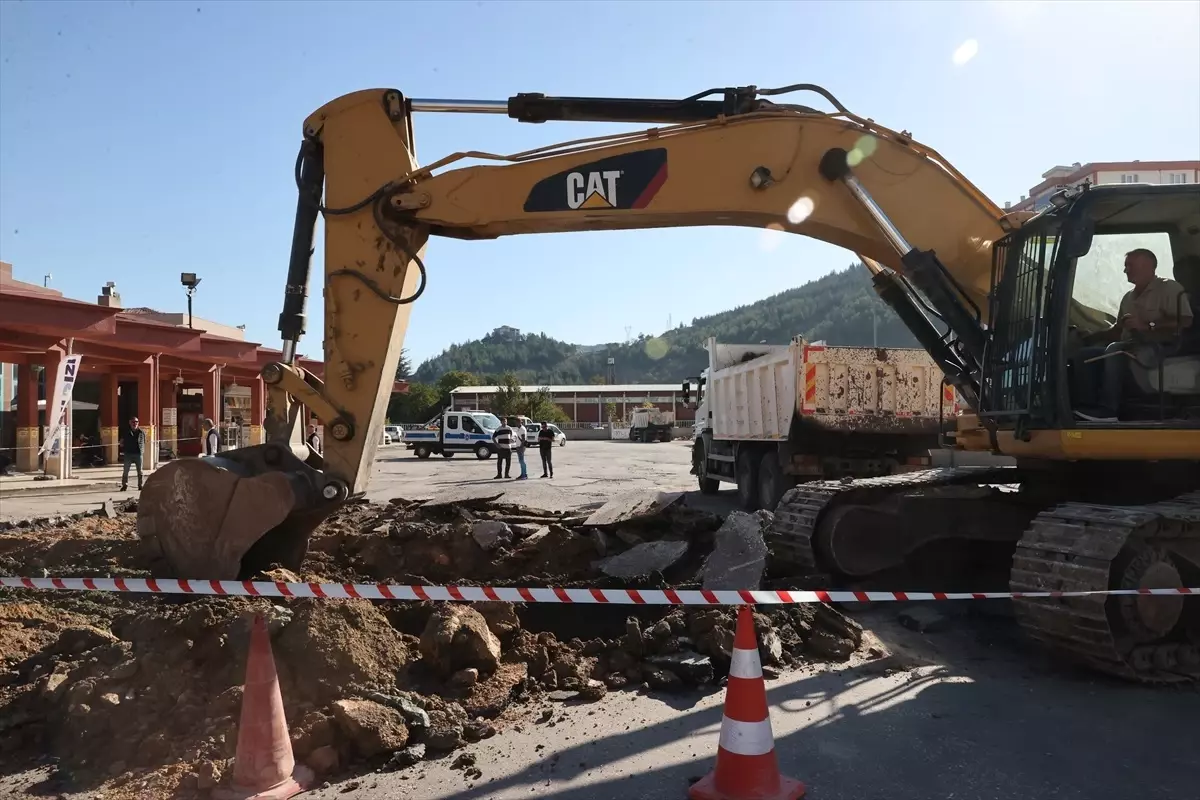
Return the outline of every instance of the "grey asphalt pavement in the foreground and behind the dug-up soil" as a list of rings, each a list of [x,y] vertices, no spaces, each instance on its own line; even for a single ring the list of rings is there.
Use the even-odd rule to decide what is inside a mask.
[[[536,477],[534,463],[528,481],[497,481],[494,461],[418,461],[402,449],[383,449],[368,497],[490,494],[503,487],[511,501],[558,509],[623,489],[695,486],[684,443],[571,443],[556,449],[554,459],[553,481]],[[721,492],[715,505],[732,494],[732,487]],[[62,505],[85,499],[35,501],[58,501],[61,513]],[[1200,796],[1200,691],[1132,686],[1054,663],[1021,638],[1002,603],[988,614],[980,603],[937,608],[947,614],[947,630],[937,633],[901,627],[898,603],[859,613],[889,655],[768,681],[780,765],[808,784],[808,798]],[[613,693],[592,705],[558,706],[566,718],[553,728],[530,721],[472,745],[467,752],[484,774],[476,781],[451,769],[456,752],[401,772],[343,776],[302,796],[682,800],[689,780],[712,769],[721,702],[719,691]],[[0,795],[30,796],[36,777],[0,780]]]

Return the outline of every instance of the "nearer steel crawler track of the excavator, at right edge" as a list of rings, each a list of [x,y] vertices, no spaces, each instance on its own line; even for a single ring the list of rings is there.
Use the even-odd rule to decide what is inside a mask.
[[[1015,591],[1168,588],[1187,575],[1171,548],[1200,551],[1200,492],[1141,506],[1067,503],[1038,515],[1016,547]],[[1181,570],[1183,567],[1183,570]],[[1200,679],[1200,614],[1187,597],[1016,599],[1026,634],[1054,651],[1147,684]]]

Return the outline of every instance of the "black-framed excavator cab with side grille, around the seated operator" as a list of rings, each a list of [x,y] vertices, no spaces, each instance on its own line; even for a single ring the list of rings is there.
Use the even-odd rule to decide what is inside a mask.
[[[1116,321],[1132,288],[1122,264],[1138,248],[1156,255],[1158,276],[1183,287],[1177,308],[1165,315],[1180,319],[1186,302],[1194,315],[1200,301],[1200,186],[1062,192],[1048,210],[997,242],[982,420],[1022,441],[1036,431],[1200,427],[1194,323],[1170,338],[1135,339],[1129,356],[1108,356],[1127,362],[1130,377],[1117,421],[1092,422],[1075,414],[1094,399],[1080,397],[1073,380],[1076,371],[1088,368],[1079,357],[1082,339]]]

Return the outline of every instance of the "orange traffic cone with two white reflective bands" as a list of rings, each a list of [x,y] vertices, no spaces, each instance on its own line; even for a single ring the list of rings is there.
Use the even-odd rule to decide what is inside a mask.
[[[733,663],[725,690],[725,717],[716,766],[688,790],[691,800],[799,800],[804,784],[779,774],[767,711],[767,686],[749,606],[738,612]]]

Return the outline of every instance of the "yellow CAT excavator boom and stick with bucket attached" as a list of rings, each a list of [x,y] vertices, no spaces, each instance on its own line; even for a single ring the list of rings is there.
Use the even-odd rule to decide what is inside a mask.
[[[836,110],[763,100],[791,90],[815,91]],[[418,167],[414,112],[658,127],[506,156],[458,152]],[[484,163],[455,168],[466,160]],[[268,441],[168,464],[139,504],[143,536],[186,577],[296,569],[311,530],[365,489],[408,309],[427,282],[437,285],[424,265],[430,236],[739,225],[839,245],[863,257],[876,290],[970,402],[991,246],[1019,222],[910,134],[856,116],[809,85],[683,101],[422,101],[359,91],[305,121],[295,180],[283,357],[263,369]],[[324,383],[294,357],[306,332],[318,217],[325,221]],[[322,455],[300,441],[300,405],[325,425]]]

